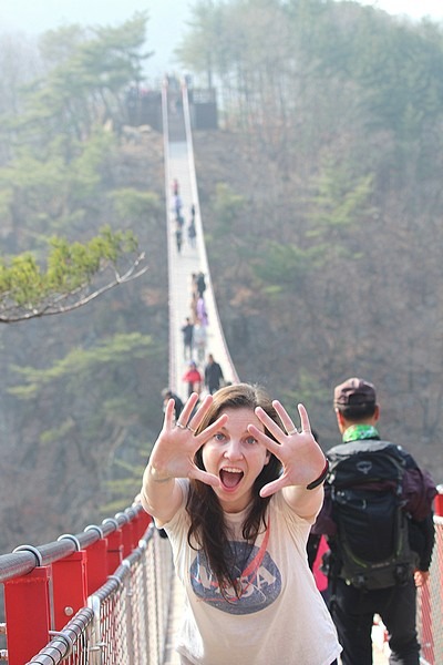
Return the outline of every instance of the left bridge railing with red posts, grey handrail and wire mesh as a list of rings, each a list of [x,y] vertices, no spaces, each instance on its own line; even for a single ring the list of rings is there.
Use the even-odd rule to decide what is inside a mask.
[[[0,556],[9,665],[159,665],[173,562],[137,504]]]

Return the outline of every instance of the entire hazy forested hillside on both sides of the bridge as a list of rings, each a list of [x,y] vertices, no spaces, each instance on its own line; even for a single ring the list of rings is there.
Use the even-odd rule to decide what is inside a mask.
[[[179,48],[217,88],[196,132],[203,223],[239,376],[303,401],[372,380],[381,433],[443,480],[443,32],[354,2],[198,2]],[[145,17],[0,39],[3,258],[131,231],[148,270],[76,311],[0,327],[0,551],[131,502],[167,381],[162,136],[127,141]],[[104,279],[104,277],[103,277]],[[99,283],[100,286],[100,283]]]

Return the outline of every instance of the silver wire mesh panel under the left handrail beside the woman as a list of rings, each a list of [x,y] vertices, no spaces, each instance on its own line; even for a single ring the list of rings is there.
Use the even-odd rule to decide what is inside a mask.
[[[140,546],[28,665],[162,665],[173,561],[150,528]]]

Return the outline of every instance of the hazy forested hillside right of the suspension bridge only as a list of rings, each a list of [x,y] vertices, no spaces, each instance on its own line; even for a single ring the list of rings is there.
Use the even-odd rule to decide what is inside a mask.
[[[303,400],[324,446],[333,386],[374,381],[382,434],[437,481],[442,34],[353,2],[200,3],[179,50],[225,112],[195,150],[239,375]]]

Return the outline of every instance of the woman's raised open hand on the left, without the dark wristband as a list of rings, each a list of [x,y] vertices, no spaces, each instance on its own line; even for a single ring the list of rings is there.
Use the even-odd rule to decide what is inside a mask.
[[[227,416],[220,416],[202,432],[195,433],[210,408],[213,397],[208,395],[193,416],[197,401],[198,395],[193,392],[175,422],[174,400],[168,400],[163,428],[150,457],[148,470],[152,480],[165,482],[171,478],[189,478],[212,487],[219,487],[219,478],[198,469],[194,457],[197,450],[225,424]]]

